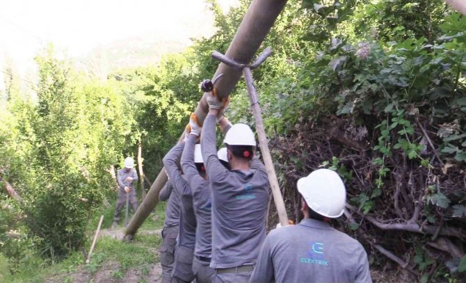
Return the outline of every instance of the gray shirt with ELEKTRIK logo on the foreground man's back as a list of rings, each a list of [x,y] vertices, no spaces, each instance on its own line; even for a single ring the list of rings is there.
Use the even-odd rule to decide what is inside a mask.
[[[367,254],[354,238],[305,218],[273,229],[250,282],[372,282]]]

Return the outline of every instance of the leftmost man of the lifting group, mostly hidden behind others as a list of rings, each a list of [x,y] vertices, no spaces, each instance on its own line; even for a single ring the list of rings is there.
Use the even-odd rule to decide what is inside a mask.
[[[165,223],[162,230],[162,244],[160,246],[160,264],[162,266],[162,283],[172,282],[173,261],[175,260],[175,246],[179,232],[179,193],[173,189],[170,180],[159,193],[159,200],[167,201],[165,209]]]

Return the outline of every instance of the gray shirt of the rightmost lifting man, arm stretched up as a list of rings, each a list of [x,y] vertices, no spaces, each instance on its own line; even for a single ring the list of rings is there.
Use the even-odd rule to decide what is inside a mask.
[[[201,148],[212,191],[212,268],[254,264],[266,236],[268,179],[264,164],[227,170],[218,160],[216,117],[207,115]]]

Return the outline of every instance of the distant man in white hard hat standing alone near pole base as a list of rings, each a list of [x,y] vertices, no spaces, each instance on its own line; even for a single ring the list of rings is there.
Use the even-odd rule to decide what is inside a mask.
[[[115,208],[115,215],[113,216],[112,227],[116,227],[120,221],[120,212],[126,204],[126,199],[129,197],[129,203],[133,207],[133,213],[138,210],[139,204],[136,197],[136,190],[134,183],[138,180],[138,174],[134,170],[134,160],[128,156],[124,159],[124,168],[117,171],[118,199]]]

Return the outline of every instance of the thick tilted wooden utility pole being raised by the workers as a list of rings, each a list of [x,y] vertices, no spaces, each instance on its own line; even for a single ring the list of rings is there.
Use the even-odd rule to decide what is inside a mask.
[[[238,63],[249,63],[286,3],[287,0],[252,1],[225,55],[228,58],[234,58]],[[230,92],[232,92],[234,86],[238,83],[241,70],[220,63],[213,77],[216,78],[219,74],[223,74],[223,76],[216,83],[216,89],[219,99],[223,99],[230,95]],[[202,125],[204,123],[208,111],[209,106],[207,105],[207,99],[204,93],[198,107],[194,111],[195,115],[198,117],[199,124]],[[166,181],[167,176],[162,168],[150,187],[150,190],[147,192],[145,199],[140,204],[136,213],[134,213],[131,221],[129,221],[125,231],[127,236],[131,237],[131,235],[137,232],[140,225],[144,223],[145,218],[150,215],[151,211],[156,207],[156,204],[159,203],[159,193]]]

